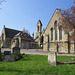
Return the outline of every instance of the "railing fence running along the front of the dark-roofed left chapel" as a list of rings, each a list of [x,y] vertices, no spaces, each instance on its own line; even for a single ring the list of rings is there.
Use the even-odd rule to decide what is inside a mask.
[[[13,47],[20,47],[22,49],[40,49],[40,45],[35,42],[27,42],[27,43],[4,43],[1,44],[2,48],[13,48]]]

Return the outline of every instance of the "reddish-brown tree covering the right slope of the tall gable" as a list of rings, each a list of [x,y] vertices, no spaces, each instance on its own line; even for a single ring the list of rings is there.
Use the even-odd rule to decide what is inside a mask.
[[[62,27],[62,29],[65,31],[65,33],[68,34],[68,40],[74,40],[75,41],[75,0],[73,2],[73,5],[68,9],[58,9],[61,15],[64,17],[59,17],[59,27]],[[71,32],[71,34],[70,34]]]

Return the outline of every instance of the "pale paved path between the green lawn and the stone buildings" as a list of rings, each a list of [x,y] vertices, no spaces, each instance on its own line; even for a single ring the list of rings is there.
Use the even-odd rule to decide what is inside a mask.
[[[1,52],[4,51],[10,51],[11,49],[9,48],[3,48],[1,49]],[[38,55],[48,55],[47,51],[43,51],[42,49],[21,49],[20,50],[21,54],[38,54]],[[58,56],[75,56],[75,54],[57,54]]]

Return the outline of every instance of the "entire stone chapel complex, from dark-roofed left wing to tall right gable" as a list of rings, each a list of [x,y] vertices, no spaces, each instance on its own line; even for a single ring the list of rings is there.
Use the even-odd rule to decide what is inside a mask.
[[[59,13],[59,15],[57,13]],[[18,45],[24,49],[42,48],[43,51],[75,53],[74,41],[69,42],[68,34],[66,34],[61,27],[58,28],[59,17],[64,16],[56,9],[46,29],[43,29],[43,31],[42,22],[38,20],[35,39],[34,34],[31,37],[23,31],[6,28],[4,26],[0,37],[1,47],[12,48]],[[69,33],[71,34],[72,32]]]

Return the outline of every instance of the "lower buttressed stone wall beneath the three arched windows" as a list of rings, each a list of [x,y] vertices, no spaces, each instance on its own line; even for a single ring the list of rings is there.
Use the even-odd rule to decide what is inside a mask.
[[[48,45],[49,44],[49,45]],[[48,50],[49,46],[49,50]],[[74,42],[46,42],[43,44],[43,51],[51,51],[58,53],[75,53]]]

